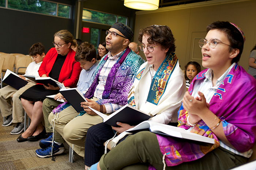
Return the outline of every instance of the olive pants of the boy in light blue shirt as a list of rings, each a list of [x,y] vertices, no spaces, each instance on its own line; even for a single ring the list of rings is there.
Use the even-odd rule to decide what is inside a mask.
[[[54,99],[51,99],[51,98],[44,99],[42,109],[43,109],[43,114],[44,114],[45,130],[46,130],[47,133],[52,133],[53,132],[52,126],[50,126],[50,122],[48,120],[48,116],[52,112],[52,110],[54,108],[56,108],[61,103],[62,102],[58,102],[58,101],[56,101]],[[63,137],[56,130],[54,130],[54,141],[55,142],[60,142],[60,143],[65,142]]]

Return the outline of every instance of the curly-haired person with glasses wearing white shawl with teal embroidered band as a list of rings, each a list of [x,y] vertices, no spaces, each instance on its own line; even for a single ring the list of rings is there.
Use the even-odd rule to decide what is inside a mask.
[[[187,90],[184,75],[174,53],[176,47],[172,31],[167,26],[151,25],[140,30],[139,41],[146,46],[144,54],[147,62],[137,72],[128,93],[128,104],[150,115],[149,121],[162,124],[171,122],[177,126],[178,108]],[[119,127],[99,123],[89,128],[84,151],[86,166],[99,161],[105,151],[103,143],[114,137],[114,131],[123,133],[120,134],[122,136],[133,127],[122,122],[117,124]],[[97,133],[99,130],[103,132]],[[125,137],[127,136],[129,135]]]

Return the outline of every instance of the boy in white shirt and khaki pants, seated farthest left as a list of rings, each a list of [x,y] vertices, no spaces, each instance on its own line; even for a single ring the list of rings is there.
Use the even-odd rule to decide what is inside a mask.
[[[29,49],[29,55],[33,57],[34,62],[27,66],[25,74],[39,77],[38,69],[45,56],[44,45],[42,43],[33,44]],[[36,84],[35,82],[25,78],[23,75],[19,76],[20,78],[27,80],[29,83],[19,90],[9,85],[0,89],[0,111],[3,117],[6,116],[6,120],[3,122],[2,126],[9,126],[11,123],[16,123],[14,126],[15,128],[10,132],[12,135],[20,134],[24,130],[24,110],[19,96],[28,88]]]

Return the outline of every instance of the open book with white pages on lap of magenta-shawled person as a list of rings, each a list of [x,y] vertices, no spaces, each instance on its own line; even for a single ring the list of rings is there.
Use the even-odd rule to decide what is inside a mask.
[[[170,137],[189,139],[193,141],[206,142],[214,144],[214,139],[207,138],[199,134],[190,133],[183,128],[170,126],[167,124],[156,123],[151,121],[144,121],[137,126],[127,130],[129,133],[136,133],[138,131],[150,130],[155,134],[167,135]]]

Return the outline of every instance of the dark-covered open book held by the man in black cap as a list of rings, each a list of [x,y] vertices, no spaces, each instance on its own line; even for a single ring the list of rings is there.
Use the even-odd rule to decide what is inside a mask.
[[[77,88],[61,88],[60,93],[77,112],[83,111],[81,102],[87,102],[87,100]]]

